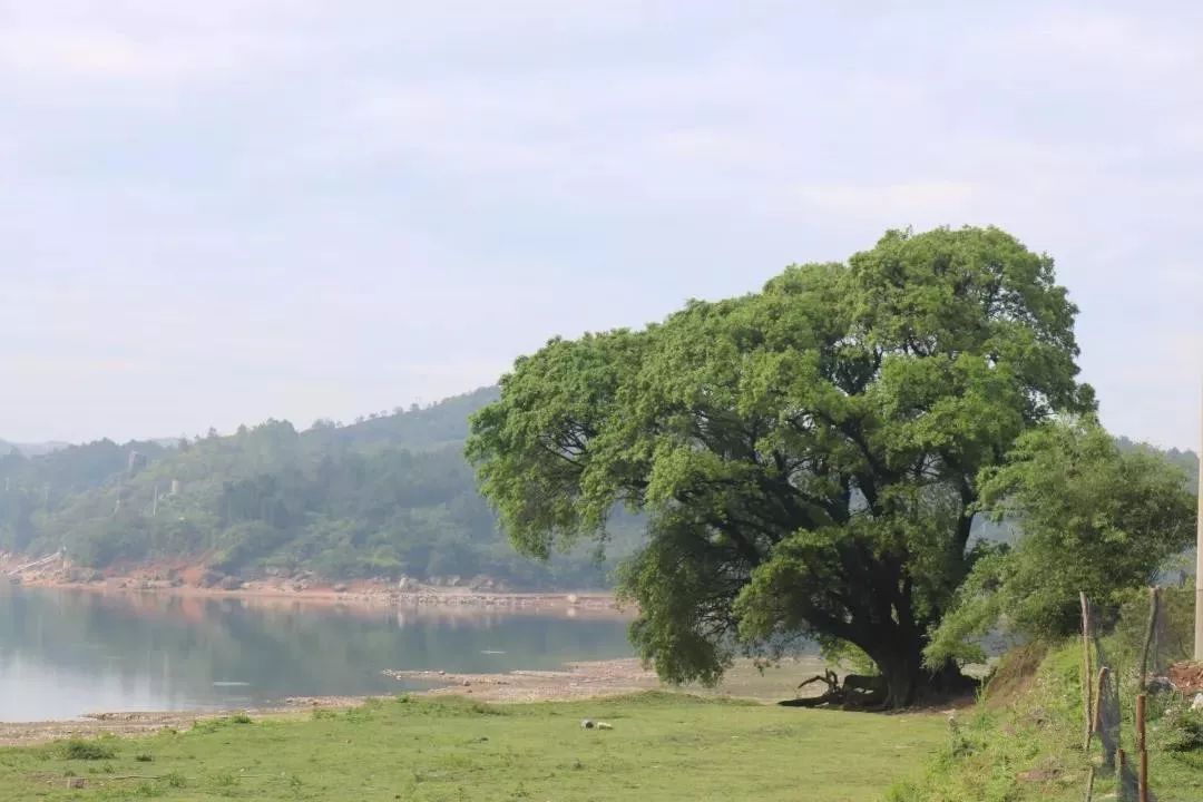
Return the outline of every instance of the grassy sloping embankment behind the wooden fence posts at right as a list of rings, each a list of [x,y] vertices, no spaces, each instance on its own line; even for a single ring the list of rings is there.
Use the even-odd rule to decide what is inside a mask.
[[[1134,675],[1122,672],[1122,747],[1134,751]],[[1045,652],[1013,652],[985,699],[960,714],[937,756],[918,780],[899,782],[891,802],[1079,802],[1090,766],[1100,767],[1096,801],[1115,800],[1114,777],[1101,768],[1096,738],[1083,751],[1081,650],[1068,643]],[[1167,714],[1173,707],[1174,713]],[[1181,697],[1149,705],[1149,776],[1158,802],[1203,800],[1203,718],[1184,712]]]

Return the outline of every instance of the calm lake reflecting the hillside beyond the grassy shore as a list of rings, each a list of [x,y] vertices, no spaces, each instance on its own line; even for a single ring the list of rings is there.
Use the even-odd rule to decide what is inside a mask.
[[[385,669],[475,673],[630,654],[616,617],[0,586],[0,721],[396,694],[421,685]]]

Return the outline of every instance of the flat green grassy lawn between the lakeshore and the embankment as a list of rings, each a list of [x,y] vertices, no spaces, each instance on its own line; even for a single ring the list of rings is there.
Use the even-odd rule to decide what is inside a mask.
[[[614,729],[583,730],[582,718]],[[0,800],[878,800],[947,741],[940,715],[654,691],[534,705],[402,697],[0,749]],[[85,786],[67,788],[71,777]]]

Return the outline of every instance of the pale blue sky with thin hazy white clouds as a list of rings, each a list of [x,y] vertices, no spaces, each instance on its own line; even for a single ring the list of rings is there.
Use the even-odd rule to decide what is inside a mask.
[[[992,224],[1192,446],[1203,6],[1142,5],[0,0],[0,438],[349,421]]]

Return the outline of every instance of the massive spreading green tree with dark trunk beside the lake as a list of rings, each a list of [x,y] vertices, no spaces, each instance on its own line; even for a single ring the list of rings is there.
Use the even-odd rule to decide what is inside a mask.
[[[552,340],[468,453],[526,553],[647,513],[622,590],[666,679],[811,636],[863,649],[905,705],[958,673],[921,655],[973,562],[978,473],[1094,406],[1075,313],[1051,259],[997,228],[891,231],[759,293]]]

